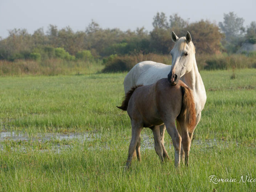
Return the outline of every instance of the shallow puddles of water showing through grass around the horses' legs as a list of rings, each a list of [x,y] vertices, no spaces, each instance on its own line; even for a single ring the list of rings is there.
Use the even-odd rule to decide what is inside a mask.
[[[61,133],[45,133],[45,134],[37,134],[36,136],[29,136],[28,134],[24,134],[22,132],[14,132],[14,131],[6,131],[6,132],[0,132],[0,148],[3,150],[3,143],[6,144],[6,142],[36,142],[36,144],[43,144],[51,142],[51,150],[60,152],[61,150],[64,150],[66,148],[72,147],[70,145],[70,142],[73,140],[76,140],[78,142],[92,142],[93,140],[100,139],[101,135],[98,133],[69,133],[69,134],[61,134]],[[141,151],[145,149],[154,149],[154,139],[147,135],[142,134],[141,135]],[[127,140],[127,139],[126,139]],[[129,145],[129,140],[124,142],[127,142],[127,146]],[[227,143],[225,141],[217,141],[215,139],[213,140],[196,140],[194,139],[192,141],[192,146],[200,146],[202,150],[207,150],[209,148],[213,147],[220,147],[220,148],[226,148],[232,143]],[[237,144],[237,143],[236,143]],[[171,143],[165,143],[166,148],[172,148]],[[13,148],[13,147],[12,147]],[[100,149],[107,148],[110,149],[107,144],[102,144]],[[93,150],[93,148],[91,148]],[[24,145],[21,147],[21,150],[26,151],[26,146]],[[44,151],[45,149],[42,148],[41,151]],[[49,148],[48,148],[49,150]]]

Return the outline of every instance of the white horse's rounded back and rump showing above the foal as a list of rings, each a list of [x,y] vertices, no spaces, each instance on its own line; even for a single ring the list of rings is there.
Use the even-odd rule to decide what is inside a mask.
[[[161,78],[167,77],[171,65],[165,65],[154,61],[142,61],[136,64],[126,75],[123,82],[125,93],[136,85],[150,85]]]

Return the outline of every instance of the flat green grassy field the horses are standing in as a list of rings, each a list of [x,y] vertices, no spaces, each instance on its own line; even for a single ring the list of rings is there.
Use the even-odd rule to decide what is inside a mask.
[[[122,168],[131,128],[115,106],[126,74],[0,77],[0,130],[24,135],[0,139],[0,191],[254,191],[256,182],[240,179],[256,178],[256,69],[236,70],[236,79],[200,73],[207,103],[190,165],[179,170],[170,136],[171,161],[161,164],[148,128],[142,161]],[[73,133],[86,136],[42,139]],[[236,182],[214,184],[211,175]]]

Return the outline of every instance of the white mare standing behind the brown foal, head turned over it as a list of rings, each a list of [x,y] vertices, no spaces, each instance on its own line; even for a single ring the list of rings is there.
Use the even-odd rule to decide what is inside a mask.
[[[175,85],[181,79],[193,91],[196,107],[196,125],[201,118],[201,111],[206,103],[206,91],[201,75],[199,74],[195,58],[195,46],[191,41],[191,35],[187,32],[186,37],[178,38],[172,31],[172,41],[175,42],[170,54],[172,65],[165,65],[154,61],[143,61],[136,64],[126,75],[123,82],[125,93],[135,85],[150,85],[159,79],[168,77],[168,81]],[[180,126],[177,123],[180,132]],[[166,127],[160,126],[161,143],[163,146],[163,156],[168,158],[164,148],[164,131]],[[190,142],[193,133],[190,135]],[[184,162],[184,150],[181,148],[181,158]]]

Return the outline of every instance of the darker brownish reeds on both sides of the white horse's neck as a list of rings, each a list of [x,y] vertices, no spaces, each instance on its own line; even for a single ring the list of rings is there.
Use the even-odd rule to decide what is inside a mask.
[[[172,59],[168,55],[138,54],[134,56],[117,56],[106,63],[102,72],[129,71],[135,64],[141,61],[155,61],[171,65]],[[199,70],[222,70],[256,68],[256,56],[245,54],[196,54],[196,62]]]

